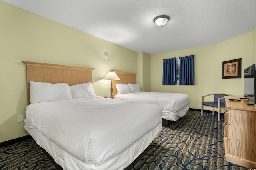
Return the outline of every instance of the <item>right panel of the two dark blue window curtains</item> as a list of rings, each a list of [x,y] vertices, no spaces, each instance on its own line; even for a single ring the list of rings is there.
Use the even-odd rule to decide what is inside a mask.
[[[180,85],[194,85],[195,71],[194,71],[194,55],[179,57],[180,59]]]

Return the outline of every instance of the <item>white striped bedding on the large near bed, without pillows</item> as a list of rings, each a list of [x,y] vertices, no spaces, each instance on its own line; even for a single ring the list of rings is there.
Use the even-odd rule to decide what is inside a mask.
[[[44,136],[86,169],[122,169],[161,131],[161,120],[162,109],[152,104],[91,97],[30,104],[25,129],[38,131],[36,139]],[[43,147],[49,145],[45,141],[36,142]],[[76,167],[68,160],[57,163],[64,169]]]

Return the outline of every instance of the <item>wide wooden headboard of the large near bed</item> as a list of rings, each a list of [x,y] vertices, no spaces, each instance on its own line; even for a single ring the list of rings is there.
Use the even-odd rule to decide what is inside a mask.
[[[28,104],[30,104],[30,80],[34,82],[67,83],[69,86],[92,82],[92,70],[94,70],[94,68],[36,63],[30,61],[22,62],[27,65]]]

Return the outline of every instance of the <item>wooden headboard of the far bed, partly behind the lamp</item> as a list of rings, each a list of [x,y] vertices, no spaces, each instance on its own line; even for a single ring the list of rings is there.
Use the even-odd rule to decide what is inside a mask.
[[[116,84],[136,83],[137,73],[120,72],[120,71],[112,71],[112,72],[115,72],[116,75],[120,78],[120,80],[113,80],[113,96],[114,97],[117,94]]]

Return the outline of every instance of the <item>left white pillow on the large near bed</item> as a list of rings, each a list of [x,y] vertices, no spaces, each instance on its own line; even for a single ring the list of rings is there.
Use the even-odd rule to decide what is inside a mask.
[[[29,81],[30,103],[72,99],[68,84]]]

